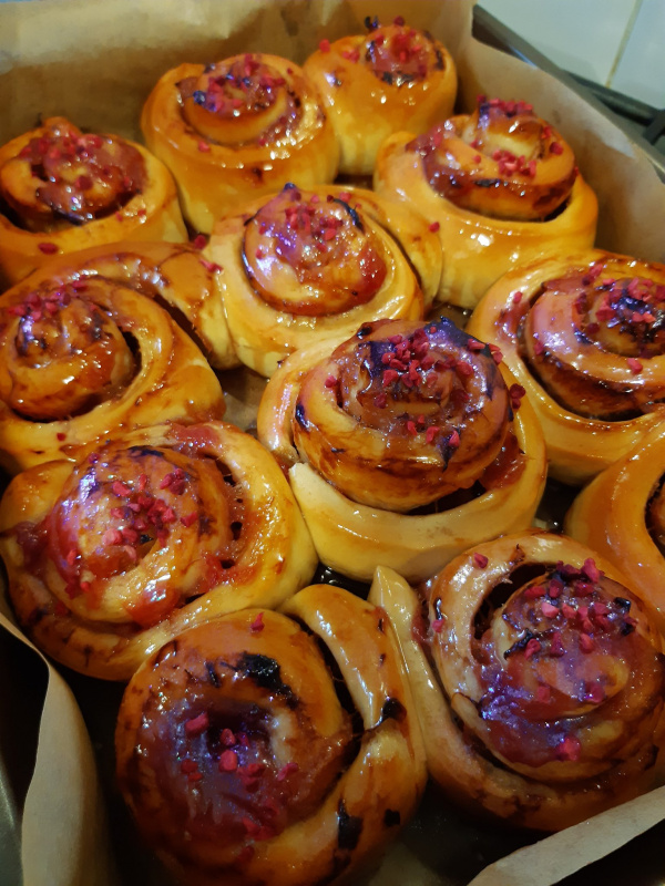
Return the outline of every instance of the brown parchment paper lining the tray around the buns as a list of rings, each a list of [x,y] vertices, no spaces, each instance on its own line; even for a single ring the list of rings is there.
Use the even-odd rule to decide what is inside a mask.
[[[84,128],[140,140],[139,114],[157,78],[183,61],[209,62],[266,51],[301,62],[324,37],[362,32],[366,16],[403,14],[442,39],[458,61],[459,109],[483,92],[531,101],[573,145],[583,175],[600,197],[598,245],[665,260],[665,186],[648,159],[605,117],[556,80],[473,41],[471,0],[33,0],[0,3],[0,142],[40,116],[68,115]],[[235,383],[244,399],[243,384]],[[248,389],[247,389],[248,390]],[[247,393],[250,398],[250,394]],[[253,404],[237,412],[243,425]],[[21,636],[0,602],[0,628]],[[34,655],[40,655],[34,652]],[[11,674],[2,674],[10,680]],[[0,710],[6,718],[10,712]],[[372,886],[463,883],[447,872],[444,830],[429,795],[409,839],[393,847]],[[430,811],[432,811],[430,818]],[[665,817],[663,789],[616,811],[521,849],[487,868],[475,886],[549,886],[623,845]],[[456,820],[454,823],[452,820]],[[93,752],[81,713],[62,677],[49,666],[34,772],[22,821],[27,886],[112,886],[116,883],[103,828]],[[467,825],[464,825],[467,827]],[[469,825],[471,831],[473,825]],[[467,830],[469,830],[469,827]],[[473,832],[475,833],[475,832]],[[478,836],[478,834],[480,836]],[[479,831],[478,843],[489,839]],[[582,834],[584,839],[580,839]],[[501,836],[505,851],[512,844]],[[441,843],[437,870],[419,846]],[[477,849],[483,855],[482,846]],[[565,865],[562,864],[565,858]],[[450,864],[449,864],[450,862]],[[638,864],[638,861],[637,863]],[[665,873],[665,862],[663,864]],[[154,882],[162,882],[156,874]],[[152,882],[152,879],[151,879]]]

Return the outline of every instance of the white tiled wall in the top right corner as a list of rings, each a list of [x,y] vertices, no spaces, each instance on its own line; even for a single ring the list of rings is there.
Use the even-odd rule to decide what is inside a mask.
[[[665,0],[479,0],[560,68],[665,107]]]

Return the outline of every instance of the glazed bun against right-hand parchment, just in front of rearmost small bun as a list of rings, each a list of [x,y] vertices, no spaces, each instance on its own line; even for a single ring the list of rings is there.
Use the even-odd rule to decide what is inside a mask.
[[[379,151],[375,189],[419,208],[446,255],[442,301],[473,308],[507,271],[593,246],[597,200],[570,145],[525,102],[475,111]]]

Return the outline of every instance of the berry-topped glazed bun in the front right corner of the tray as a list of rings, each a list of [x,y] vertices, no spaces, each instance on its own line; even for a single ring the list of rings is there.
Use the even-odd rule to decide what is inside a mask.
[[[655,782],[663,640],[614,567],[564,536],[511,535],[451,562],[424,596],[421,624],[418,595],[386,570],[370,600],[397,622],[446,791],[560,830]]]

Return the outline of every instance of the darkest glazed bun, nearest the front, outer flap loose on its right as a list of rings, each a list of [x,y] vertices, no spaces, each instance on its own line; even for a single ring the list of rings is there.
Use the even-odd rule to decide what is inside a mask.
[[[424,786],[382,610],[317,585],[285,612],[186,631],[125,692],[121,790],[184,883],[338,883],[395,839]]]

